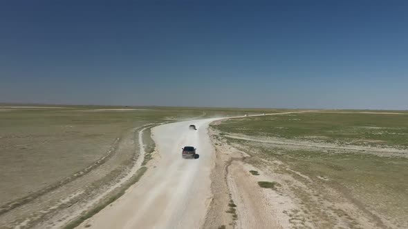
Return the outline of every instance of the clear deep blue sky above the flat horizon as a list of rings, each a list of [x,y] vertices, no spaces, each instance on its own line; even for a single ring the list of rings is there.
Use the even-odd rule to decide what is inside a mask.
[[[408,1],[0,1],[0,102],[408,109]]]

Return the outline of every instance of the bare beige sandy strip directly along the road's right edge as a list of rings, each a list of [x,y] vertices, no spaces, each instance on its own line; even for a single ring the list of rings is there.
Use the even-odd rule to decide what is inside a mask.
[[[263,189],[257,181],[272,180],[266,174],[254,177],[250,170],[258,170],[244,163],[248,158],[210,130],[216,148],[216,166],[212,172],[214,194],[203,228],[290,228],[290,219],[284,212],[295,208],[295,203],[276,190]],[[228,203],[234,203],[237,217],[226,213]]]

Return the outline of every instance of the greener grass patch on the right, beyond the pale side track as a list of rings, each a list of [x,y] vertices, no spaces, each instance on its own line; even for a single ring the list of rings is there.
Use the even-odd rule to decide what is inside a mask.
[[[401,113],[404,115],[305,112],[230,119],[217,128],[250,136],[408,147],[408,112]]]

